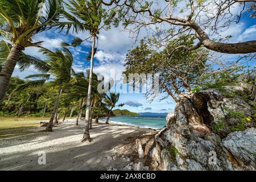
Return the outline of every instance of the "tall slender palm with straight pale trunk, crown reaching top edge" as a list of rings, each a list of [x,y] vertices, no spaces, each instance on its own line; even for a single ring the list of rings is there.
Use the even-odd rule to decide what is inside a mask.
[[[89,86],[86,101],[86,114],[85,114],[85,131],[81,142],[91,141],[89,133],[89,115],[90,115],[90,105],[91,105],[91,94],[92,94],[92,76],[93,76],[93,57],[96,53],[96,39],[97,35],[100,33],[101,28],[108,28],[110,22],[112,21],[115,13],[114,10],[110,14],[106,13],[105,9],[102,8],[101,0],[69,0],[68,3],[64,3],[71,14],[65,12],[65,18],[71,20],[72,22],[81,22],[82,27],[90,32],[90,37],[92,38],[92,51],[90,53],[90,73],[89,73]],[[104,22],[102,22],[104,19]],[[64,28],[64,26],[60,26]],[[69,28],[69,26],[68,26]],[[85,39],[88,40],[88,39]],[[85,40],[80,38],[73,39],[71,45],[64,43],[65,46],[79,46]]]

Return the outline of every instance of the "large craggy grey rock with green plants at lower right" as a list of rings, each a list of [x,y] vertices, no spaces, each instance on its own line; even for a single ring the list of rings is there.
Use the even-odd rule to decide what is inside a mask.
[[[148,152],[151,168],[255,170],[255,102],[247,100],[249,93],[242,86],[226,86],[184,94],[155,135]]]

